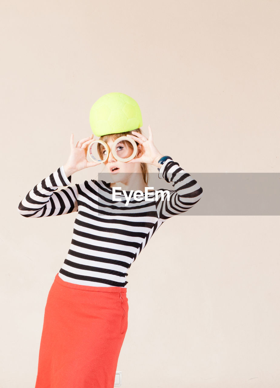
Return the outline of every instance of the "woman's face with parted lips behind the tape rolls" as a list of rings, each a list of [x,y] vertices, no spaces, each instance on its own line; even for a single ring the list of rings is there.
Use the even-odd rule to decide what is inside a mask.
[[[116,158],[114,158],[113,154],[112,154],[112,145],[113,145],[114,141],[113,140],[108,140],[107,141],[107,145],[109,147],[109,156],[107,158],[107,160],[104,162],[104,165],[106,166],[108,172],[113,176],[113,175],[118,175],[118,182],[120,182],[119,180],[119,174],[120,173],[133,173],[133,172],[141,172],[141,168],[140,168],[140,163],[129,163],[129,162],[121,162],[119,160],[117,160]],[[137,146],[137,149],[138,149],[138,152],[137,152],[137,155],[138,157],[140,156],[140,152],[141,152],[141,145],[138,144]],[[117,147],[116,147],[116,154],[120,157],[120,158],[127,158],[128,156],[131,155],[133,149],[131,149],[129,146],[128,146],[128,142],[119,142],[117,144]],[[104,155],[106,155],[106,150],[104,150]],[[135,158],[137,158],[137,155],[135,156]],[[117,167],[117,169],[114,170],[114,168]],[[114,170],[114,171],[113,171]]]

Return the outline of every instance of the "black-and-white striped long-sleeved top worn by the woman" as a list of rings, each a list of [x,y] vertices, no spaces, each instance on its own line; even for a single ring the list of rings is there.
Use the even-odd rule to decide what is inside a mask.
[[[49,217],[77,211],[67,256],[59,270],[64,281],[98,287],[126,287],[127,270],[168,218],[187,211],[202,196],[202,188],[176,161],[167,159],[158,177],[173,182],[163,198],[149,192],[149,200],[113,189],[104,180],[71,185],[63,165],[44,178],[19,203],[24,217]],[[58,187],[69,186],[60,191]],[[126,192],[127,194],[129,192]]]

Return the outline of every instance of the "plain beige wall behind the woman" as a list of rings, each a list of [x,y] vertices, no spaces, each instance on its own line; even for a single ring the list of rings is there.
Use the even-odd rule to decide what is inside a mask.
[[[1,387],[35,386],[76,217],[26,219],[21,199],[66,163],[72,132],[92,133],[90,107],[110,92],[137,100],[144,133],[194,178],[279,172],[279,12],[276,0],[1,3]],[[129,270],[122,387],[279,387],[279,217],[194,213],[162,225]]]

